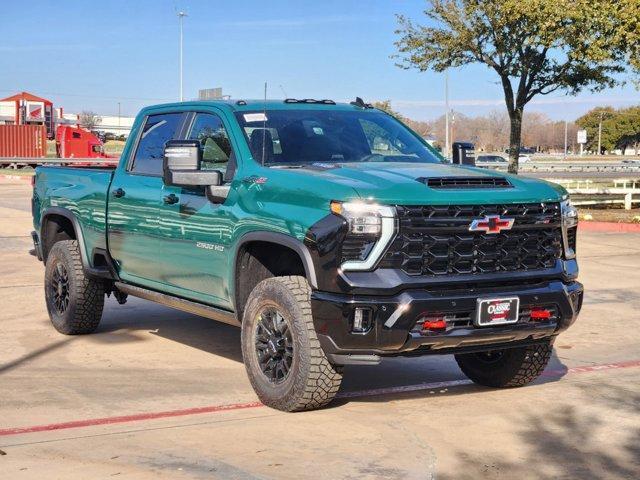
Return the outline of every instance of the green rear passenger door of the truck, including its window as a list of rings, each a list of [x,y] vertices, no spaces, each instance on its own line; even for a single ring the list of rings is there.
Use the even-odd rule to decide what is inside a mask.
[[[160,255],[163,231],[158,216],[162,201],[164,145],[178,138],[185,115],[148,115],[127,162],[111,182],[107,209],[109,250],[123,280],[158,287],[165,260]]]

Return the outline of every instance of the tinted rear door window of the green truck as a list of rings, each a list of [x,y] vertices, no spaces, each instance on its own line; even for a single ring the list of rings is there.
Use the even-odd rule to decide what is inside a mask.
[[[143,175],[161,175],[164,144],[175,138],[182,113],[149,115],[142,129],[131,171]]]

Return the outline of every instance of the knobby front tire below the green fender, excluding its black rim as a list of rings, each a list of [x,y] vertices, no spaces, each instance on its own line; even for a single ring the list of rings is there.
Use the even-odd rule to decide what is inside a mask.
[[[328,404],[338,392],[342,374],[325,356],[311,315],[311,289],[304,277],[273,277],[253,289],[242,319],[242,356],[251,385],[265,405],[294,412]],[[261,313],[275,308],[288,322],[293,355],[290,370],[281,383],[263,373],[256,351]]]

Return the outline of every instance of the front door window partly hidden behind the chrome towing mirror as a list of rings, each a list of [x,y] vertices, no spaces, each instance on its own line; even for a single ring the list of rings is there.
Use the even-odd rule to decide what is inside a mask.
[[[231,142],[222,120],[211,113],[198,113],[189,140],[198,140],[202,148],[201,170],[227,170],[233,163]]]

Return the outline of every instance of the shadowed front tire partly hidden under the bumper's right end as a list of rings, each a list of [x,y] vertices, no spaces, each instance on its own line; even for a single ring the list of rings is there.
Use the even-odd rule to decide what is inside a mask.
[[[487,360],[488,352],[464,353],[455,357],[460,369],[475,383],[509,388],[522,387],[538,378],[549,363],[551,351],[551,344],[542,343],[500,350],[499,358],[492,361]]]

